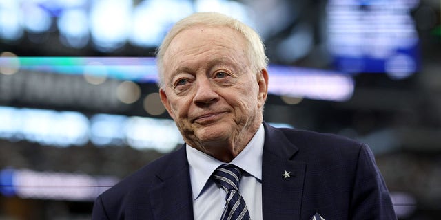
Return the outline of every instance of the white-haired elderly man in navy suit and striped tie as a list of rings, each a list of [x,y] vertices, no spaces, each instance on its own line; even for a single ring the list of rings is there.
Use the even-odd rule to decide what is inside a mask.
[[[157,58],[185,144],[100,195],[93,219],[396,219],[365,144],[263,122],[267,58],[247,25],[192,14]]]

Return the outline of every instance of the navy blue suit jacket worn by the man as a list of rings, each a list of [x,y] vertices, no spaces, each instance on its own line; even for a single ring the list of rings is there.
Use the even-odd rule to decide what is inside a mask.
[[[264,122],[263,219],[396,219],[365,144]],[[291,172],[286,179],[283,173]],[[147,164],[95,201],[92,219],[193,219],[185,147]]]

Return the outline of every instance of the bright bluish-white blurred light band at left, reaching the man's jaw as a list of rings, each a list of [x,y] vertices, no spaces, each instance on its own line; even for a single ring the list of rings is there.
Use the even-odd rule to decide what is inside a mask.
[[[132,146],[161,153],[183,144],[170,119],[97,114],[88,119],[79,112],[17,109],[0,106],[0,138],[27,140],[57,147]]]

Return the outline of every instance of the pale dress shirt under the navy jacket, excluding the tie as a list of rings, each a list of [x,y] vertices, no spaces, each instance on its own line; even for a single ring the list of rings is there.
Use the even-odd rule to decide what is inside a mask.
[[[265,131],[263,124],[247,146],[232,162],[243,170],[239,191],[249,216],[253,220],[262,219],[262,154]],[[193,193],[194,219],[219,220],[225,206],[225,191],[209,177],[218,166],[225,164],[214,157],[192,148],[187,144],[187,160]]]

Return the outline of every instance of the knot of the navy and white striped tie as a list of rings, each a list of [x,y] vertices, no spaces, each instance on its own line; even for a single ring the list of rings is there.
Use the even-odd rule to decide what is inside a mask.
[[[242,176],[240,168],[228,164],[220,166],[213,173],[213,178],[225,191],[239,190],[239,179]]]

